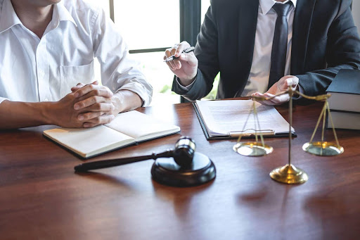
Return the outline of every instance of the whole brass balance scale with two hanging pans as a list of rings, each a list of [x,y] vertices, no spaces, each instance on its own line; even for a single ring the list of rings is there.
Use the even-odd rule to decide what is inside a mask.
[[[330,114],[330,108],[328,104],[328,98],[331,96],[330,94],[324,94],[319,96],[307,96],[305,94],[300,93],[299,91],[293,90],[291,87],[288,88],[287,91],[283,91],[281,93],[276,94],[275,96],[272,96],[270,98],[264,98],[259,96],[252,96],[252,100],[270,100],[274,99],[276,96],[281,96],[283,94],[289,94],[290,101],[289,101],[289,151],[288,151],[288,164],[275,168],[270,172],[270,177],[274,179],[277,182],[282,182],[285,184],[302,184],[304,182],[307,182],[307,179],[309,179],[308,175],[304,170],[300,168],[296,168],[295,165],[291,163],[291,140],[292,140],[292,131],[291,126],[293,125],[293,95],[299,94],[300,96],[311,99],[315,101],[325,101],[323,105],[323,109],[321,110],[319,119],[316,123],[316,127],[314,129],[314,132],[311,136],[311,139],[309,142],[304,144],[302,146],[302,149],[306,151],[307,153],[311,153],[317,156],[337,156],[344,152],[344,148],[340,146],[338,137],[335,132],[335,127],[333,125],[333,119],[331,118]],[[326,119],[326,112],[328,112],[328,119],[331,122],[331,126],[333,128],[333,134],[335,137],[335,143],[334,142],[328,142],[324,141],[324,129],[325,129],[325,119]],[[245,130],[245,127],[248,123],[248,120],[250,118],[250,115],[253,113],[254,115],[254,122],[255,122],[255,141],[248,141],[248,142],[240,142],[241,137],[245,136],[245,134],[240,134],[238,137],[238,141],[233,146],[233,151],[236,151],[240,155],[243,156],[264,156],[273,151],[273,148],[271,146],[268,146],[264,143],[264,138],[262,136],[260,124],[259,124],[259,118],[257,117],[257,110],[255,106],[255,101],[252,103],[252,110],[250,110],[250,113],[248,115],[248,118],[245,121],[245,125],[243,127],[243,131]],[[316,130],[319,127],[319,123],[321,121],[321,118],[323,118],[323,130],[321,132],[321,141],[313,141],[314,136],[316,134]],[[257,130],[259,129],[259,130]],[[259,134],[257,134],[259,132]],[[261,139],[261,142],[258,141],[259,137]]]

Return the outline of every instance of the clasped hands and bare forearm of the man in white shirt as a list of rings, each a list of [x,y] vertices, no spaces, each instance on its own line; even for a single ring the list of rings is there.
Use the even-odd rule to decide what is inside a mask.
[[[118,113],[113,93],[96,82],[78,84],[72,91],[59,101],[1,102],[0,130],[39,125],[95,127],[111,122]]]

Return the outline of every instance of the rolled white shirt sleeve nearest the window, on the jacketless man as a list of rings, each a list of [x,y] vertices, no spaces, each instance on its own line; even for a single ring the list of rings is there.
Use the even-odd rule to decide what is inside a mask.
[[[129,90],[138,94],[143,106],[148,106],[153,87],[141,72],[140,63],[129,54],[127,44],[112,20],[98,11],[91,22],[93,25],[94,56],[101,64],[101,82],[111,91]]]

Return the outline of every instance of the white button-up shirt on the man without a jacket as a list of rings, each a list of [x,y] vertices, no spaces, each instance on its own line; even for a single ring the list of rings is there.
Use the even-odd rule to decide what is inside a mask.
[[[103,85],[133,91],[148,106],[153,89],[100,8],[60,1],[39,39],[21,23],[11,0],[0,0],[0,103],[58,101],[77,83],[94,82],[94,58]]]

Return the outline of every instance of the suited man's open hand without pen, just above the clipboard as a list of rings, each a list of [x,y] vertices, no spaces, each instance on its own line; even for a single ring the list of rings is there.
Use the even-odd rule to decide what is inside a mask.
[[[272,96],[281,93],[282,91],[288,90],[288,87],[292,87],[293,89],[297,89],[297,84],[299,83],[299,79],[293,75],[288,75],[281,77],[278,82],[272,85],[266,93],[261,94],[259,92],[255,92],[251,96],[260,96],[264,98],[271,98]],[[290,100],[290,96],[288,94],[283,94],[281,96],[276,96],[274,99],[258,101],[264,105],[280,105]]]

